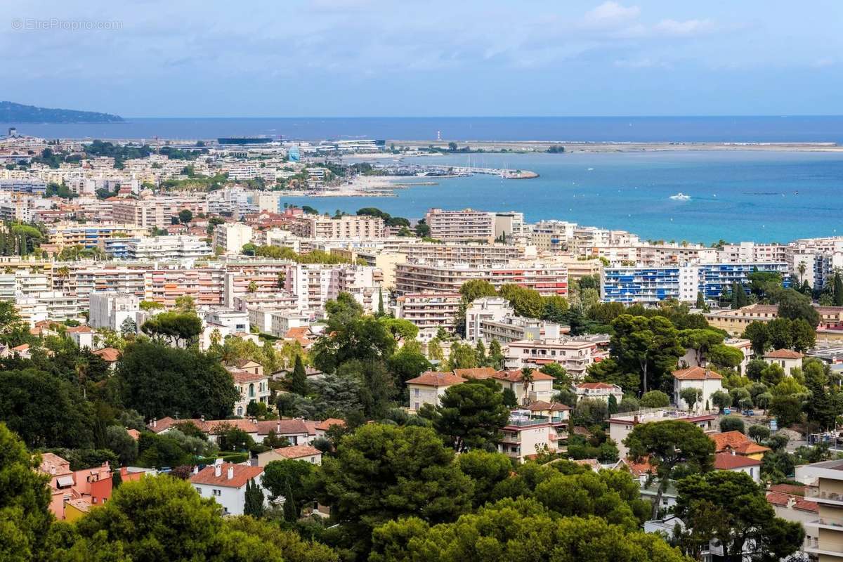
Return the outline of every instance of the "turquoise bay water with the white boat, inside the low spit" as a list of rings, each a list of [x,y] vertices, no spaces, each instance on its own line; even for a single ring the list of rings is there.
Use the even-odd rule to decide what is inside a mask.
[[[408,158],[408,162],[529,169],[536,179],[475,175],[398,190],[397,197],[290,197],[319,211],[376,206],[423,217],[432,206],[523,211],[629,230],[642,238],[704,242],[787,242],[843,235],[843,154],[651,152],[488,154]],[[678,192],[690,201],[674,201]]]

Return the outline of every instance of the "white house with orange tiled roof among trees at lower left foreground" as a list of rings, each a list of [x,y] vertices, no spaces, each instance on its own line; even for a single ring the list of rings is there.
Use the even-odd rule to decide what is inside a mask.
[[[220,506],[223,506],[226,515],[243,515],[246,484],[254,481],[263,490],[264,495],[268,496],[263,484],[260,483],[261,474],[263,474],[261,467],[223,463],[220,459],[217,464],[209,465],[201,470],[198,470],[198,467],[194,468],[191,484],[203,498],[213,498]]]

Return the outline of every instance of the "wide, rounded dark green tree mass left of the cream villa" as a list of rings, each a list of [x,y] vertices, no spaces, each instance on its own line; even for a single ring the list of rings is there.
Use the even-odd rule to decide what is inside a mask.
[[[137,341],[126,346],[116,378],[123,404],[147,418],[225,418],[239,399],[231,374],[196,349]]]

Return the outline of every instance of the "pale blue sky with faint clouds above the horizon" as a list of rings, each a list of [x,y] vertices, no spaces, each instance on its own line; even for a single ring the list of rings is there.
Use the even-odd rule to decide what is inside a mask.
[[[0,6],[0,99],[46,107],[132,117],[843,114],[839,0]]]

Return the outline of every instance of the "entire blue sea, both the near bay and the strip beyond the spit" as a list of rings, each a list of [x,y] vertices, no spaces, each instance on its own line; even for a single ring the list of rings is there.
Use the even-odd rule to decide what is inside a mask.
[[[9,125],[0,125],[5,130]],[[426,117],[132,118],[120,124],[17,125],[48,138],[433,139],[558,142],[835,142],[843,116],[774,117]],[[417,219],[431,207],[523,211],[623,229],[644,239],[701,242],[843,235],[843,153],[671,150],[562,154],[453,154],[411,163],[526,169],[535,179],[490,175],[410,180],[384,197],[289,197],[282,204],[354,212],[375,206]],[[402,182],[409,183],[409,182]],[[690,199],[671,199],[679,193]],[[838,232],[839,231],[839,232]]]

